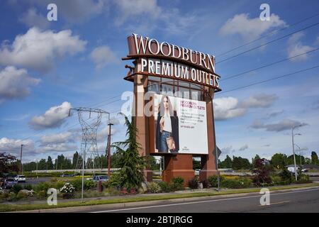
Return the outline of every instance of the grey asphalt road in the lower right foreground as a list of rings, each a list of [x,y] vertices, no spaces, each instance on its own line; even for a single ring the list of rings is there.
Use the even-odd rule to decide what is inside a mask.
[[[270,192],[270,204],[260,205],[259,193],[245,196],[216,196],[198,201],[132,206],[123,209],[92,209],[93,213],[212,213],[212,212],[319,212],[319,188]]]

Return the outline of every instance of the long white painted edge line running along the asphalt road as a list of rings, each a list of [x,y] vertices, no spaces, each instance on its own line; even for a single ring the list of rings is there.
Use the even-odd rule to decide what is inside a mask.
[[[317,189],[307,189],[307,190],[300,190],[300,191],[294,191],[294,192],[281,192],[276,194],[270,194],[271,196],[279,195],[279,194],[291,194],[291,193],[298,193],[298,192],[310,192],[310,191],[316,191]],[[130,210],[136,210],[136,209],[148,209],[148,208],[155,208],[155,207],[164,207],[164,206],[180,206],[180,205],[189,205],[189,204],[202,204],[202,203],[209,203],[213,201],[226,201],[226,200],[235,200],[235,199],[248,199],[253,197],[260,197],[260,195],[256,196],[242,196],[242,197],[234,197],[234,198],[225,198],[225,199],[212,199],[212,200],[205,200],[205,201],[191,201],[186,203],[179,203],[179,204],[164,204],[164,205],[155,205],[155,206],[140,206],[140,207],[133,207],[133,208],[125,208],[125,209],[115,209],[115,210],[107,210],[107,211],[93,211],[90,213],[107,213],[107,212],[115,212],[115,211],[130,211]]]

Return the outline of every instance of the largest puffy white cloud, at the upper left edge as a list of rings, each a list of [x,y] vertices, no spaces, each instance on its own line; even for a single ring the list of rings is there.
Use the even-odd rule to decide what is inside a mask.
[[[52,69],[56,59],[82,52],[86,41],[72,31],[58,33],[30,28],[26,34],[17,35],[12,45],[3,43],[0,48],[0,64],[27,67],[41,72]]]

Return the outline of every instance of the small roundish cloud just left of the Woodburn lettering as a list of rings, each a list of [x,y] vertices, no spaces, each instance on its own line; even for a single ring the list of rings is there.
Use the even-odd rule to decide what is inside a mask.
[[[118,62],[118,57],[106,45],[95,48],[90,55],[91,60],[96,65],[96,70],[101,70],[108,64]]]

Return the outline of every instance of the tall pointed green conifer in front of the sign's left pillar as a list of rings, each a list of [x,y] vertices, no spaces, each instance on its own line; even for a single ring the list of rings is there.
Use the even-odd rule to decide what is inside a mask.
[[[123,114],[122,114],[123,115]],[[121,187],[126,189],[139,188],[144,180],[143,170],[147,165],[145,157],[140,157],[139,150],[140,144],[136,138],[138,136],[138,128],[135,126],[135,118],[132,117],[131,122],[128,117],[125,118],[125,126],[127,139],[123,142],[116,142],[112,144],[112,147],[120,153],[120,160],[118,164],[121,166],[119,175],[121,177]]]

